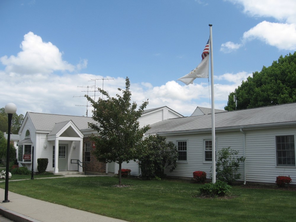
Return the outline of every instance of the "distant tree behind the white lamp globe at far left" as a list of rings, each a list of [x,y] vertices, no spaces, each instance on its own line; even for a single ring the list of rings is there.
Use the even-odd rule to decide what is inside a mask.
[[[20,130],[20,126],[22,125],[22,121],[24,120],[24,115],[17,115],[16,113],[12,115],[11,120],[11,133],[18,134]],[[5,112],[4,108],[0,109],[0,131],[7,132],[8,131],[8,115]]]

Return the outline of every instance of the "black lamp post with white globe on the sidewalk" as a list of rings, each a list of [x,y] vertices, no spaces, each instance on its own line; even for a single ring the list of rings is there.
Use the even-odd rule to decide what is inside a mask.
[[[10,128],[12,115],[17,111],[17,106],[13,103],[8,103],[4,107],[5,112],[8,114],[8,134],[7,134],[7,154],[6,154],[6,172],[5,172],[5,196],[3,203],[9,202],[8,200],[8,176],[9,176],[9,147],[10,147]]]

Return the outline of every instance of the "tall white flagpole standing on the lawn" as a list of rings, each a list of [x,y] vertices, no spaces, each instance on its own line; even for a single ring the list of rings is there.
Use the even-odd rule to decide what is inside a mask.
[[[215,140],[215,97],[214,97],[214,65],[213,65],[213,38],[210,25],[210,54],[211,54],[211,94],[212,94],[212,183],[216,183],[216,140]]]

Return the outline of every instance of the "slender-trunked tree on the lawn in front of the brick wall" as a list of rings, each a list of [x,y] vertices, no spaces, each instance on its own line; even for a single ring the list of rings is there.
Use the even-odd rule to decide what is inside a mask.
[[[89,127],[99,132],[100,136],[91,136],[95,142],[93,154],[101,162],[115,162],[119,165],[118,177],[121,186],[121,165],[123,162],[136,160],[141,149],[141,139],[149,126],[139,128],[138,119],[146,108],[144,102],[138,110],[135,102],[131,103],[130,81],[126,78],[126,90],[122,96],[110,97],[103,89],[98,90],[107,97],[95,102],[89,96],[87,99],[94,107],[92,119],[99,124],[89,123]]]

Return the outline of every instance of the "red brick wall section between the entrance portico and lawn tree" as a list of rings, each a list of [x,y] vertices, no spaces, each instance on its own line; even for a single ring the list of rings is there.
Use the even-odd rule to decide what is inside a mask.
[[[85,166],[86,166],[86,172],[88,173],[94,173],[94,174],[105,174],[106,173],[106,163],[99,162],[96,160],[96,157],[92,154],[92,151],[94,150],[92,146],[92,142],[90,141],[89,137],[83,138],[83,148],[82,148],[82,161],[85,161],[85,143],[91,143],[91,149],[90,149],[90,162],[87,162],[87,164],[83,163],[83,172],[85,172]]]

